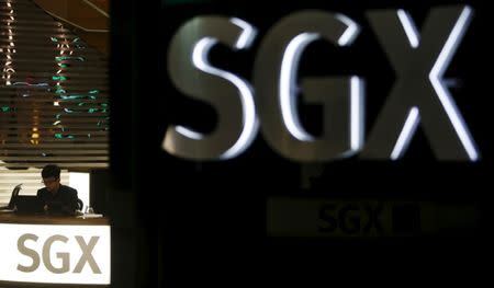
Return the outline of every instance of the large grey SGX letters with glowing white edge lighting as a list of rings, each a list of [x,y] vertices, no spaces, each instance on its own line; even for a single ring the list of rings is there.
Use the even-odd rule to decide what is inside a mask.
[[[431,9],[420,32],[404,10],[370,11],[367,18],[397,80],[366,146],[362,78],[306,78],[296,85],[299,62],[308,44],[322,39],[349,46],[359,25],[343,14],[307,10],[283,18],[266,34],[254,64],[254,89],[207,61],[210,49],[218,43],[249,48],[256,36],[249,23],[223,16],[198,16],[184,23],[170,43],[170,79],[181,93],[214,106],[218,120],[207,135],[181,125],[168,127],[164,149],[186,159],[231,159],[248,148],[260,126],[269,145],[294,161],[326,161],[357,152],[366,159],[395,160],[420,123],[438,159],[479,160],[469,128],[442,83],[472,9]],[[299,94],[323,105],[322,136],[314,137],[301,125]]]

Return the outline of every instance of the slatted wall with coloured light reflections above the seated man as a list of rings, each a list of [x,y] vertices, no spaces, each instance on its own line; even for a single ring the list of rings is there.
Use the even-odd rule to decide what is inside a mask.
[[[108,57],[33,1],[0,11],[0,166],[108,166]]]

